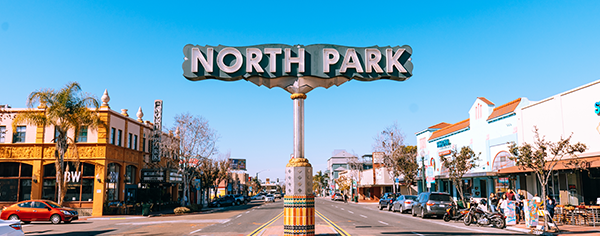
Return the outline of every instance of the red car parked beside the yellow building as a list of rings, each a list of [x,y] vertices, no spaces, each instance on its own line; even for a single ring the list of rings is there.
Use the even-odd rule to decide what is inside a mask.
[[[50,200],[29,200],[5,207],[0,214],[0,219],[21,220],[26,224],[31,221],[50,221],[58,224],[61,221],[71,223],[79,219],[79,215],[76,210],[61,207]]]

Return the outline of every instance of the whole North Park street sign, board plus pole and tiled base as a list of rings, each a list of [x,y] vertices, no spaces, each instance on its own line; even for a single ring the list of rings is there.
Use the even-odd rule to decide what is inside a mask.
[[[283,232],[286,236],[315,234],[312,165],[304,156],[306,94],[318,87],[340,86],[350,80],[404,81],[412,76],[413,70],[412,48],[408,45],[262,44],[228,47],[188,44],[183,53],[183,76],[188,80],[244,79],[258,86],[279,87],[291,94],[294,102],[294,157],[285,168]],[[227,62],[226,56],[234,57],[235,62]],[[363,58],[364,62],[359,58]]]

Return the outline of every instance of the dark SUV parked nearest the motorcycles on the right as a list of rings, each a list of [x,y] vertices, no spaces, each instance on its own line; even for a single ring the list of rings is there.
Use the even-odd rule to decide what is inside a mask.
[[[419,194],[417,202],[413,205],[412,216],[444,216],[446,208],[452,203],[452,198],[448,193],[424,192]]]

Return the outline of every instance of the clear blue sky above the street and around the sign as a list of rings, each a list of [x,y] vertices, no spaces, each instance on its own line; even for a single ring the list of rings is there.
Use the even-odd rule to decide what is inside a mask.
[[[350,81],[306,100],[306,156],[325,170],[334,149],[363,155],[398,122],[415,132],[468,118],[478,96],[540,100],[600,79],[600,1],[0,1],[0,104],[78,81],[114,110],[152,119],[204,116],[221,152],[250,175],[283,178],[293,146],[292,100],[247,81],[191,82],[186,44],[339,44],[413,48],[405,82]]]

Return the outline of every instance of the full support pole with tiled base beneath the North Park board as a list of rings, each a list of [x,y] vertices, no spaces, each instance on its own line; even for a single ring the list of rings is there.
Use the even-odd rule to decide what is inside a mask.
[[[312,193],[312,166],[304,158],[304,99],[294,93],[294,157],[285,167],[286,195],[283,198],[283,234],[315,235],[315,196]]]

